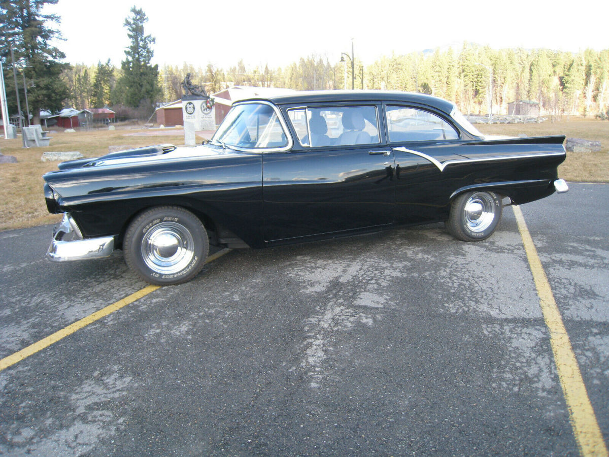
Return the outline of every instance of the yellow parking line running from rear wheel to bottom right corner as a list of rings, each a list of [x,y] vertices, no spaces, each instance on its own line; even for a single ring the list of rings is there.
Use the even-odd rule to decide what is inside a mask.
[[[579,444],[580,453],[586,457],[607,456],[609,455],[607,445],[605,445],[600,432],[599,423],[596,420],[586,386],[583,383],[582,373],[579,370],[579,364],[577,364],[569,335],[554,300],[554,294],[552,294],[541,260],[537,255],[537,249],[524,221],[523,212],[517,206],[513,206],[513,210],[520,236],[523,239],[524,250],[529,259],[541,311],[550,331],[550,344],[552,345],[552,352],[554,352],[558,379],[563,388],[563,394],[569,409],[571,427],[577,439],[577,444]]]

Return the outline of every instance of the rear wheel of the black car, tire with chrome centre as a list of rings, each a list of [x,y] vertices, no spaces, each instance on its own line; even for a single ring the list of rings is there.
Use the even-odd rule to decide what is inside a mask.
[[[493,235],[501,214],[501,196],[491,191],[474,191],[457,196],[451,205],[446,228],[455,238],[480,241]]]

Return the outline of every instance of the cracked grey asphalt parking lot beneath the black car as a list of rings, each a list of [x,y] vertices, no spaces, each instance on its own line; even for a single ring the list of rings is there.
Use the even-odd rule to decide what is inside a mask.
[[[521,210],[603,447],[609,185],[570,188]],[[0,233],[0,358],[147,286],[50,237]],[[0,454],[580,455],[538,290],[512,208],[480,243],[233,250],[1,370]]]

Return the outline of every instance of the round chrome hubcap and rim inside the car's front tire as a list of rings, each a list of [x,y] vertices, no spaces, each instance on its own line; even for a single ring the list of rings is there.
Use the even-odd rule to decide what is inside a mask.
[[[194,239],[186,227],[175,222],[161,222],[142,239],[144,263],[161,274],[183,270],[194,257]]]

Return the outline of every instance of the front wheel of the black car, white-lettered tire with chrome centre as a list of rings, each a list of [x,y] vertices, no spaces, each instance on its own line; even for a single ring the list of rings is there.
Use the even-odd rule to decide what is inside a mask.
[[[209,251],[203,224],[180,207],[157,207],[139,214],[123,242],[127,265],[149,283],[179,284],[201,271]]]

